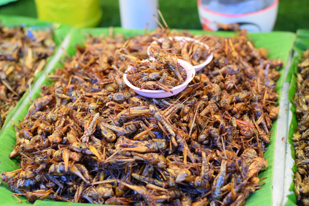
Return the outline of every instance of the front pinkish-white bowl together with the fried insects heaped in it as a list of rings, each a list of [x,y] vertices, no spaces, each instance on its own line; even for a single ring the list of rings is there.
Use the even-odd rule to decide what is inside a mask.
[[[166,98],[180,93],[195,75],[193,66],[177,58],[150,58],[131,61],[123,75],[125,84],[149,98]]]

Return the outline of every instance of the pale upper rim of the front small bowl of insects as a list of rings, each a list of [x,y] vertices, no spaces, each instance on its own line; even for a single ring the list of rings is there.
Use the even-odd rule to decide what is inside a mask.
[[[143,61],[150,62],[150,61],[154,61],[154,60],[155,60],[155,58],[150,58],[150,59],[146,59],[146,60],[143,60]],[[186,62],[186,61],[184,61],[184,60],[182,60],[182,59],[177,59],[177,61],[178,61],[178,63],[179,63],[180,65],[182,65],[183,62],[188,63],[188,62]],[[180,63],[180,62],[181,62],[181,63]],[[178,88],[181,88],[181,87],[184,87],[184,88],[185,88],[186,86],[184,86],[184,85],[188,85],[188,84],[192,81],[192,79],[193,79],[194,76],[195,76],[195,69],[193,68],[192,65],[191,65],[191,67],[192,67],[192,69],[190,69],[190,70],[187,71],[187,78],[186,78],[186,80],[184,81],[184,83],[183,83],[183,84],[180,84],[180,85],[178,85],[178,86],[176,86],[176,87],[171,88],[171,91],[174,91],[174,90],[176,90],[176,89],[178,89]],[[192,70],[192,71],[191,71],[191,70]],[[190,72],[190,71],[191,71],[191,72]],[[188,75],[188,72],[191,73],[191,76]],[[129,80],[127,79],[127,73],[124,73],[124,75],[123,75],[123,80],[125,81],[125,84],[128,85],[128,87],[132,88],[133,90],[138,90],[138,91],[140,91],[140,92],[145,92],[145,93],[163,93],[163,92],[165,92],[165,91],[162,90],[162,89],[160,89],[160,90],[140,89],[140,88],[134,86],[133,84],[131,84],[131,83],[129,82]],[[172,95],[174,95],[174,94],[172,94]]]

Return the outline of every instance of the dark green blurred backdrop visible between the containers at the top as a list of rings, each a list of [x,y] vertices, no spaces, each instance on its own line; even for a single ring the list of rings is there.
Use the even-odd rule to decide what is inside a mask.
[[[1,4],[0,15],[37,17],[35,0],[0,0]],[[99,6],[103,16],[97,27],[121,26],[118,0],[99,0]],[[158,0],[158,6],[170,28],[202,29],[196,0]],[[279,0],[273,30],[296,32],[298,28],[309,29],[308,8],[309,0]]]

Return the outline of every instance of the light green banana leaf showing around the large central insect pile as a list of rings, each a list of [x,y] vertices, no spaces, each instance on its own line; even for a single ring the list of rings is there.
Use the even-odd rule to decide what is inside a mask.
[[[197,30],[189,30],[194,34],[204,34],[205,31],[197,31]],[[66,54],[72,56],[75,54],[76,49],[75,45],[81,45],[83,40],[87,38],[88,34],[92,36],[99,36],[99,35],[108,35],[109,28],[89,28],[89,29],[71,29],[68,33],[66,38],[69,40],[69,45],[65,48]],[[144,31],[141,30],[124,30],[122,28],[114,28],[114,33],[123,33],[126,37],[133,36],[137,34],[143,34]],[[207,32],[214,35],[219,36],[233,36],[234,33],[232,32]],[[270,32],[270,33],[250,33],[248,34],[249,38],[252,40],[253,44],[256,47],[264,47],[267,48],[269,51],[269,58],[281,58],[285,63],[288,61],[290,51],[292,49],[295,34],[291,32]],[[55,68],[61,67],[61,63],[57,62],[53,65],[51,72],[54,71]],[[284,74],[284,69],[280,70],[281,76]],[[283,83],[283,77],[280,77],[277,81],[277,92],[281,91]],[[44,81],[42,84],[51,84],[49,81]],[[40,93],[40,88],[37,89],[35,92],[35,96]],[[25,105],[22,110],[20,110],[19,115],[14,119],[17,122],[19,119],[23,119],[25,114],[28,111],[30,106],[30,101]],[[268,149],[265,152],[264,157],[268,161],[268,166],[259,174],[260,178],[266,177],[265,185],[262,186],[262,189],[257,190],[254,194],[250,195],[248,201],[246,202],[246,206],[248,205],[272,205],[272,184],[273,184],[273,161],[274,161],[274,145],[275,145],[275,137],[276,137],[276,130],[277,130],[277,121],[273,123],[273,133],[271,136],[271,143],[268,145]],[[0,141],[3,142],[0,145],[0,149],[2,153],[0,154],[0,172],[2,171],[12,171],[18,168],[18,160],[10,159],[8,155],[12,151],[12,145],[15,144],[15,132],[12,125],[8,127],[8,129],[0,136]],[[280,139],[281,141],[281,139]],[[18,200],[12,196],[12,191],[8,189],[6,186],[2,185],[0,187],[0,193],[2,195],[2,202],[6,205],[15,205]],[[23,201],[21,205],[26,205],[26,198],[20,197]],[[35,205],[86,205],[81,203],[68,203],[68,202],[53,202],[50,200],[37,200]],[[20,205],[20,204],[19,204]]]

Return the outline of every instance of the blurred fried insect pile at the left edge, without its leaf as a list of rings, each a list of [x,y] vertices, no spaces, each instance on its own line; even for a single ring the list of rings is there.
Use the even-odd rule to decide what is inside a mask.
[[[53,54],[52,31],[0,26],[0,130],[46,59]]]

